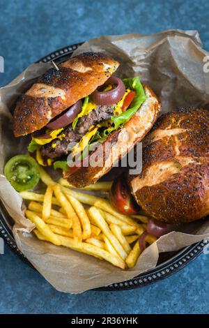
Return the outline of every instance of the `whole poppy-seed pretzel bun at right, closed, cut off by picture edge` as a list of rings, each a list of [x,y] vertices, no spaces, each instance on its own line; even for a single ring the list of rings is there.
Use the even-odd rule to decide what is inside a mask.
[[[166,114],[144,140],[143,170],[128,181],[138,204],[165,223],[209,214],[209,112]]]

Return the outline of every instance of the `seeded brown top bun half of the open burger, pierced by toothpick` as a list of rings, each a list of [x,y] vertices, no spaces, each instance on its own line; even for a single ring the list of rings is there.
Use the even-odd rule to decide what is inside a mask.
[[[119,63],[101,52],[84,52],[50,68],[17,102],[15,137],[43,128],[56,115],[91,94],[115,72]]]

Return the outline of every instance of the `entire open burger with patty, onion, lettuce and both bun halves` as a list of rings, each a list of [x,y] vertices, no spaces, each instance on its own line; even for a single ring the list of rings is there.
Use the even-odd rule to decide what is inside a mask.
[[[61,168],[73,186],[100,179],[160,112],[159,100],[139,77],[113,76],[118,66],[100,52],[79,54],[47,70],[17,101],[15,137],[31,135],[28,150],[38,163]],[[102,155],[91,165],[95,154]]]

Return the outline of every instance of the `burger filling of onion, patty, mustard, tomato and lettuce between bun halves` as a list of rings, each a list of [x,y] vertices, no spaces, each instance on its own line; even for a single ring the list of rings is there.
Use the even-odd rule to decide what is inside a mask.
[[[85,157],[95,144],[121,128],[146,100],[139,77],[110,79],[90,96],[47,124],[44,134],[33,133],[29,151],[36,151],[40,165],[67,170],[67,156]],[[75,108],[75,110],[74,110]],[[69,123],[69,124],[68,124]],[[72,144],[72,146],[70,146]],[[87,154],[88,154],[87,152]]]

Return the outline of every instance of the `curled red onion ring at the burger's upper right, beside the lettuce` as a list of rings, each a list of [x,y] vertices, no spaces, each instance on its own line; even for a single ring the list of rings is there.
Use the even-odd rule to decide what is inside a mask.
[[[109,79],[102,85],[105,87],[108,84],[116,84],[116,88],[109,91],[98,91],[95,90],[91,95],[91,98],[94,103],[97,105],[114,105],[118,103],[125,94],[125,85],[121,79],[118,77],[111,76]]]

